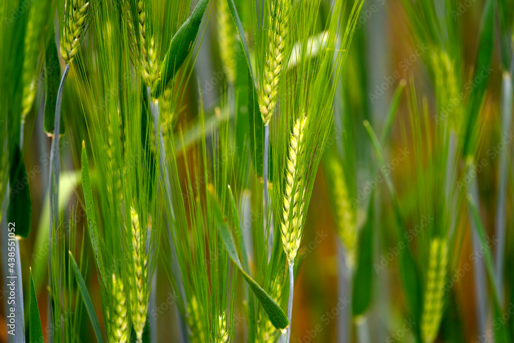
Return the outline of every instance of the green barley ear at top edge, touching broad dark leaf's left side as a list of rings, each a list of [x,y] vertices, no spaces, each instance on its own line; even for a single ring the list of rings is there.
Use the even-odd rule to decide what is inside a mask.
[[[147,87],[153,88],[159,78],[157,47],[154,37],[146,40],[146,12],[142,0],[137,4],[139,13],[139,44],[140,44],[140,71],[143,82]],[[147,46],[148,45],[148,46]]]

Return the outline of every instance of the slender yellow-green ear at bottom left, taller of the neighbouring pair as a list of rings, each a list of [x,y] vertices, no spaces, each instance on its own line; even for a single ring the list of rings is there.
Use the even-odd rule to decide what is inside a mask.
[[[131,313],[132,324],[136,332],[138,342],[141,342],[143,329],[146,323],[146,311],[148,310],[148,287],[146,287],[146,262],[145,253],[146,234],[139,227],[139,216],[131,207],[132,223],[132,256],[134,263],[134,274],[131,278]],[[133,296],[134,294],[134,296]]]

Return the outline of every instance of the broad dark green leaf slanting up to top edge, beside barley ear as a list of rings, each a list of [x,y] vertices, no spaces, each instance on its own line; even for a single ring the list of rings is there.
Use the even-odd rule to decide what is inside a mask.
[[[191,13],[191,16],[180,26],[173,36],[170,48],[162,62],[161,78],[152,89],[152,96],[158,98],[168,82],[174,77],[177,70],[186,60],[196,40],[201,18],[207,9],[209,0],[200,0]]]

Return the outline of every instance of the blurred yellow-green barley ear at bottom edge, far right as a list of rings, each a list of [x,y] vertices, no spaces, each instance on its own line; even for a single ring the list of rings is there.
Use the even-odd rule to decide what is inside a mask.
[[[430,243],[429,269],[421,316],[421,337],[425,343],[432,343],[439,331],[443,315],[443,292],[448,245],[446,241],[434,238]]]

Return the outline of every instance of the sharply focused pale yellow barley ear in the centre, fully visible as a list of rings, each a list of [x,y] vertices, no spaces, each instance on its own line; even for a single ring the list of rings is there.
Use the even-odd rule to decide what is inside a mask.
[[[286,161],[285,190],[283,194],[282,221],[280,223],[282,245],[287,255],[289,264],[295,260],[302,230],[303,204],[300,204],[300,194],[304,190],[300,186],[302,179],[302,153],[304,150],[304,130],[306,118],[301,116],[295,122],[289,140],[288,155]]]

